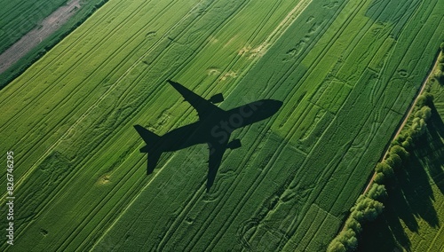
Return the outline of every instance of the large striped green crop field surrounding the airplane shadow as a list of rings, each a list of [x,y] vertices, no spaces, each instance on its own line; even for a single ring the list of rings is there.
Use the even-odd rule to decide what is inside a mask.
[[[443,6],[110,0],[0,91],[0,152],[16,161],[0,250],[325,250],[432,67]],[[132,125],[198,120],[167,79],[222,92],[226,110],[283,102],[234,131],[209,193],[207,145],[146,175]]]

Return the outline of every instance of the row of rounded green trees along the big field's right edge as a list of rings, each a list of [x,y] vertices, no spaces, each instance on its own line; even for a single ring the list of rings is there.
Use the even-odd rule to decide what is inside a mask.
[[[355,250],[358,247],[358,234],[362,231],[361,224],[375,220],[383,211],[384,204],[381,201],[387,195],[385,184],[389,183],[396,169],[401,169],[402,163],[408,161],[408,151],[414,146],[415,139],[424,134],[426,121],[432,115],[432,109],[427,106],[432,103],[432,99],[432,95],[426,92],[417,98],[416,112],[411,125],[393,140],[385,159],[377,163],[373,185],[350,209],[351,214],[345,221],[343,230],[331,241],[327,251]]]

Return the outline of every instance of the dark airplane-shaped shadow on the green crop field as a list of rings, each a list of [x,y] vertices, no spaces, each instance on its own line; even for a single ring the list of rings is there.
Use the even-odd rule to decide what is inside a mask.
[[[140,148],[141,153],[148,154],[147,175],[154,171],[163,152],[178,151],[189,146],[206,143],[210,151],[207,192],[214,184],[226,149],[236,149],[242,146],[240,139],[229,141],[231,133],[236,129],[265,120],[276,114],[283,104],[279,100],[262,99],[226,111],[214,105],[214,103],[223,101],[222,94],[214,95],[207,100],[179,83],[170,80],[167,82],[191,106],[194,106],[199,115],[199,121],[171,130],[162,137],[140,125],[134,126],[147,144],[147,146]]]

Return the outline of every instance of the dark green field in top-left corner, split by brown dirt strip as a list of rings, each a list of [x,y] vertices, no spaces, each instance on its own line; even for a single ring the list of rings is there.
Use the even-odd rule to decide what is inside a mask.
[[[106,0],[89,0],[80,1],[80,8],[73,4],[73,9],[69,11],[72,16],[67,17],[67,20],[60,20],[57,15],[52,16],[52,13],[59,12],[59,7],[69,8],[68,3],[75,2],[72,0],[67,2],[60,0],[50,1],[10,1],[2,4],[4,7],[0,13],[2,13],[2,20],[0,20],[0,53],[6,53],[7,55],[20,55],[19,60],[12,60],[11,62],[0,62],[0,89],[3,89],[5,85],[11,83],[12,80],[23,73],[32,63],[37,59],[40,59],[46,51],[49,51],[52,46],[59,43],[67,34],[80,25],[83,20],[86,20],[91,14],[99,8]],[[73,13],[72,13],[73,12]],[[43,21],[46,20],[46,21]],[[42,23],[45,25],[42,25]],[[42,30],[48,29],[49,23],[56,23],[58,28],[51,35],[45,35],[46,32]],[[28,35],[28,32],[35,34],[37,37],[28,37],[28,40],[39,40],[36,45],[26,48],[15,48],[19,51],[6,51],[14,43],[17,43],[20,38]],[[42,35],[43,33],[43,35]],[[25,43],[23,43],[25,44]],[[17,44],[14,44],[17,45]],[[24,45],[23,45],[24,46]],[[16,53],[14,53],[16,52]],[[11,60],[8,56],[4,56],[6,59]],[[5,60],[5,59],[3,59]],[[8,61],[6,60],[6,61]],[[15,62],[15,63],[13,63]],[[11,65],[11,66],[10,66]],[[9,66],[9,67],[5,67]]]

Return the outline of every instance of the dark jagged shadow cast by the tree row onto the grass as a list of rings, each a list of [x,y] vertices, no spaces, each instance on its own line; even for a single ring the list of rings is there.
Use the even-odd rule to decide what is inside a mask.
[[[440,227],[431,184],[444,193],[444,123],[436,108],[431,108],[432,117],[424,135],[416,140],[415,151],[410,151],[408,161],[385,185],[388,197],[383,214],[375,222],[362,225],[358,251],[410,251],[412,244],[401,223],[410,232],[418,232],[418,218]]]

